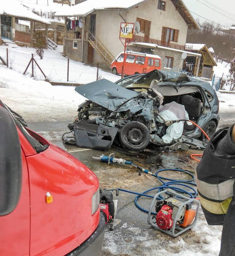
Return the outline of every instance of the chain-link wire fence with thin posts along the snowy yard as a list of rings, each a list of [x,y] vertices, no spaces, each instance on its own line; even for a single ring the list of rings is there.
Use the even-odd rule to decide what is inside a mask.
[[[22,74],[30,74],[36,80],[87,84],[105,78],[116,82],[121,77],[111,72],[86,65],[65,57],[43,57],[0,48],[0,63]]]

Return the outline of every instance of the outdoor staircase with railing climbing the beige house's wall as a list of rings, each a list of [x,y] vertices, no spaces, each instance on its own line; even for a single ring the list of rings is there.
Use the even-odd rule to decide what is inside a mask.
[[[88,42],[96,50],[96,52],[102,57],[107,65],[111,65],[112,61],[115,59],[112,53],[102,44],[101,41],[96,38],[91,31],[89,31],[90,36]],[[91,40],[92,39],[92,40]]]

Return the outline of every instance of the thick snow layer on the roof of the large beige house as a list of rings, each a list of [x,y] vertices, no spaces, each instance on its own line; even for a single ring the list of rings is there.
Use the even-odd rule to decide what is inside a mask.
[[[146,1],[146,0],[145,0]],[[79,3],[75,6],[61,10],[55,14],[55,16],[86,16],[87,14],[95,10],[107,10],[107,9],[129,9],[135,5],[138,5],[143,0],[87,0]]]

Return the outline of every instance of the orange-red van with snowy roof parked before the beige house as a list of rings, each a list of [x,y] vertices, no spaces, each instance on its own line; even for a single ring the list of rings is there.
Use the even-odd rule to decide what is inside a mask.
[[[118,75],[122,73],[123,59],[124,52],[121,52],[111,63],[113,74]],[[124,75],[129,76],[138,73],[148,73],[154,69],[161,69],[161,57],[153,54],[127,51]]]

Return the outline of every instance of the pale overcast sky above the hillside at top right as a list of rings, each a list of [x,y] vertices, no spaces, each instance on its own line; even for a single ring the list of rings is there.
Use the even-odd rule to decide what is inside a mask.
[[[230,26],[235,24],[235,0],[183,0],[188,9],[200,16],[219,23],[223,26]],[[206,4],[203,5],[202,3]],[[213,4],[214,6],[210,5]],[[218,7],[218,9],[216,8]],[[214,10],[212,10],[212,8]],[[221,14],[219,14],[220,12]],[[200,18],[195,14],[192,14],[194,18]],[[225,17],[225,16],[229,16]],[[204,21],[204,19],[200,18]]]

